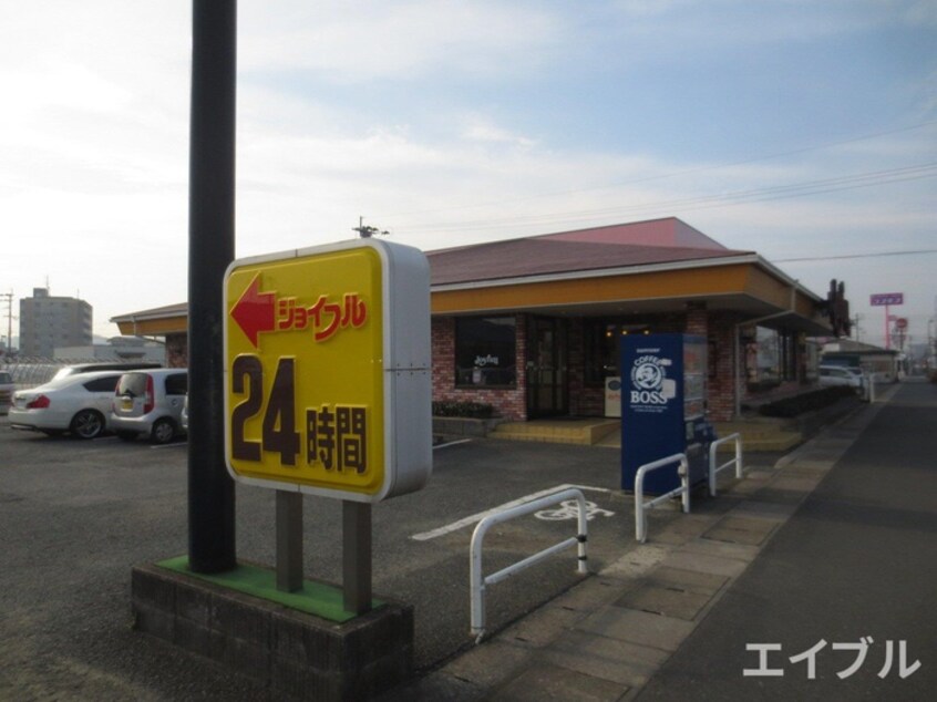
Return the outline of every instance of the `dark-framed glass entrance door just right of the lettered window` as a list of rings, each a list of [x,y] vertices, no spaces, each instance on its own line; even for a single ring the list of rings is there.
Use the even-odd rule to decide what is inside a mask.
[[[527,416],[569,413],[566,321],[534,317],[527,326]]]

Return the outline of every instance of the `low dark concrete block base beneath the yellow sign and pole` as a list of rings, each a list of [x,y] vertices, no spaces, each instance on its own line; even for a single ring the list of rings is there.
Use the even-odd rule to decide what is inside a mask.
[[[363,700],[413,672],[413,607],[338,623],[156,565],[132,575],[134,628],[301,699]]]

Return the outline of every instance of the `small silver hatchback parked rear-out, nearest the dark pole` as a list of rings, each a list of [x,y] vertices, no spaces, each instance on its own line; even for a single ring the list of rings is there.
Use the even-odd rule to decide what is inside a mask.
[[[123,440],[148,437],[166,444],[184,433],[182,409],[188,371],[162,368],[121,375],[111,405],[111,425]]]

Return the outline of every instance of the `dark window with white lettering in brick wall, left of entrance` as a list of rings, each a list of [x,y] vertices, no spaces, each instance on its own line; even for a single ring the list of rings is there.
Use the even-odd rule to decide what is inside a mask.
[[[514,317],[455,320],[455,384],[513,388],[517,383],[517,322]]]

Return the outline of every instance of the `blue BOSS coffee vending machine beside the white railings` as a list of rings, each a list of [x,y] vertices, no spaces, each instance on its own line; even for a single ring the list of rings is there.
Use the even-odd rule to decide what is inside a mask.
[[[711,425],[706,421],[707,343],[690,334],[621,339],[621,488],[635,489],[642,465],[684,453],[690,485],[707,479]],[[645,493],[680,486],[677,464],[651,471]]]

